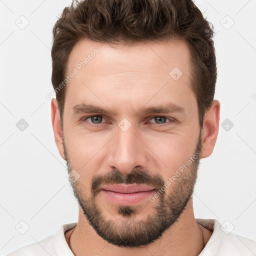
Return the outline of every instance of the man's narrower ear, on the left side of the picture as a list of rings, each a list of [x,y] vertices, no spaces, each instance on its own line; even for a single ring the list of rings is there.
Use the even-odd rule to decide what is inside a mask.
[[[58,111],[58,102],[55,98],[51,99],[50,106],[51,106],[51,123],[52,123],[55,143],[57,145],[59,154],[65,160],[60,115]]]

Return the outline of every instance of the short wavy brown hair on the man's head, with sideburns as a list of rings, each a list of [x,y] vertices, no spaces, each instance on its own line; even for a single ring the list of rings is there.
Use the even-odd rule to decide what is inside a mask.
[[[217,71],[212,25],[192,0],[73,0],[53,27],[51,82],[55,92],[66,76],[69,54],[82,38],[109,44],[185,40],[192,56],[191,86],[202,127]],[[65,87],[56,93],[61,122]]]

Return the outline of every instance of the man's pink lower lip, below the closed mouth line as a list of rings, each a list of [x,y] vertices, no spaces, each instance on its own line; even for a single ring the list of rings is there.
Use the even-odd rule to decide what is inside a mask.
[[[119,205],[134,205],[148,198],[154,190],[149,191],[140,191],[135,193],[118,193],[114,191],[101,189],[102,193],[109,199],[111,202]]]

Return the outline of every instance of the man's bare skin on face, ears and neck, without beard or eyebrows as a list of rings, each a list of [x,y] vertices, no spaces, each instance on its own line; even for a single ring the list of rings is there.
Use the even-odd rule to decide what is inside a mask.
[[[191,90],[190,52],[184,41],[147,42],[132,46],[78,41],[70,53],[67,73],[84,57],[97,48],[99,52],[90,59],[66,85],[63,111],[63,134],[56,99],[51,101],[51,118],[58,151],[66,160],[63,137],[68,150],[68,160],[80,177],[83,193],[90,195],[90,185],[95,174],[105,174],[112,167],[122,173],[130,173],[137,165],[147,167],[151,174],[160,174],[164,181],[189,157],[193,156],[199,134],[196,97]],[[173,67],[182,71],[178,80],[170,77]],[[181,113],[152,113],[135,116],[143,106],[158,106],[169,102],[182,106]],[[99,113],[74,114],[72,107],[89,103],[116,112],[104,115],[102,123],[90,126],[87,116]],[[219,126],[220,103],[213,100],[205,113],[201,130],[202,148],[200,158],[208,157],[214,148]],[[161,126],[153,117],[169,116]],[[126,118],[131,126],[125,132],[118,123]],[[158,123],[159,124],[159,123]],[[63,137],[62,137],[63,136]],[[189,171],[189,168],[188,170]],[[172,189],[169,186],[166,193]],[[108,220],[122,223],[118,215],[102,195],[98,204]],[[152,212],[153,202],[145,200],[143,208],[135,216],[141,219]],[[199,225],[193,214],[192,198],[178,220],[157,240],[139,248],[113,245],[100,237],[88,223],[79,208],[77,226],[65,233],[69,247],[80,255],[198,255],[211,231]]]

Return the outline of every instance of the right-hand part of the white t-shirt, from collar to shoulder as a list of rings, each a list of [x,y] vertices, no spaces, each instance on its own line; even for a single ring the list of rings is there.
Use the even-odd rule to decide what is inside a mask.
[[[200,256],[250,256],[256,255],[256,241],[228,231],[228,223],[222,225],[216,219],[196,219],[196,221],[212,230],[212,235]]]

